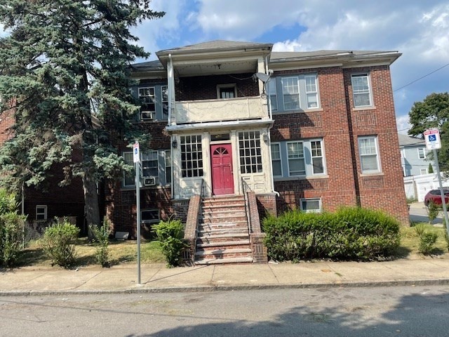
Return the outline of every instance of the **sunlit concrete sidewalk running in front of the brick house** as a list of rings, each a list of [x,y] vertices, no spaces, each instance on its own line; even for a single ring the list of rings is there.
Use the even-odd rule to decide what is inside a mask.
[[[0,271],[0,296],[449,284],[449,258],[172,269],[152,264],[142,265],[141,282],[137,284],[136,265],[76,270],[23,267]]]

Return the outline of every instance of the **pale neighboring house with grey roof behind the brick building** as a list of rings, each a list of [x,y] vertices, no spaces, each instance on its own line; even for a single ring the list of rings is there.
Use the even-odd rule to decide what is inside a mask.
[[[426,144],[423,139],[398,134],[404,177],[429,173]],[[432,163],[432,167],[433,167]]]

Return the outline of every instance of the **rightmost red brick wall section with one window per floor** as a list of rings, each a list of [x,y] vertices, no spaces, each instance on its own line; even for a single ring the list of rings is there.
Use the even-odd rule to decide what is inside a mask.
[[[351,73],[370,72],[373,110],[354,110]],[[359,67],[344,70],[348,116],[354,134],[354,165],[357,169],[360,203],[363,207],[383,209],[404,225],[409,224],[403,171],[394,114],[393,91],[388,66]],[[358,136],[377,136],[382,174],[362,176],[358,157]]]

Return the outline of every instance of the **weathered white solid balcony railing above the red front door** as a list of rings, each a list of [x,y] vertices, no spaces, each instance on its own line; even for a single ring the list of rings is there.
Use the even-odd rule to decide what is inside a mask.
[[[260,97],[176,102],[172,124],[269,118],[267,100]]]

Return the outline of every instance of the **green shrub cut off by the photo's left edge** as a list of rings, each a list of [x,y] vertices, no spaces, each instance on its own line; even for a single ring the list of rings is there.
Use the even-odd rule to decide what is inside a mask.
[[[11,267],[23,248],[25,216],[13,211],[0,214],[0,265]]]

